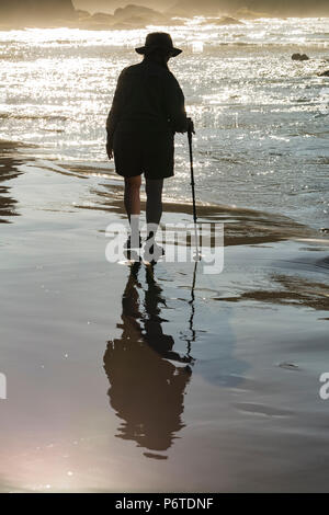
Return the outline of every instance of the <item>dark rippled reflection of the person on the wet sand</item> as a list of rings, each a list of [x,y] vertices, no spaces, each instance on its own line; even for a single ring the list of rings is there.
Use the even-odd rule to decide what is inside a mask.
[[[146,267],[148,287],[140,305],[139,267],[136,263],[131,268],[122,299],[123,323],[118,325],[123,332],[109,342],[104,368],[111,385],[110,403],[124,421],[117,436],[151,451],[164,451],[184,426],[181,414],[191,358],[173,352],[172,336],[163,334],[160,306],[164,299],[151,267]],[[152,457],[164,456],[154,453]]]

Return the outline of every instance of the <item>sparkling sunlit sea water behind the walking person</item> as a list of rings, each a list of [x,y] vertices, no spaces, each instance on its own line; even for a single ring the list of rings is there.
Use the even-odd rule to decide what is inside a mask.
[[[197,199],[279,213],[316,229],[329,211],[329,20],[194,19],[170,31],[170,61],[195,122]],[[36,158],[113,178],[105,118],[121,69],[147,32],[69,28],[0,32],[0,138]],[[293,53],[310,60],[295,62]],[[190,201],[186,137],[177,136],[166,196]]]

